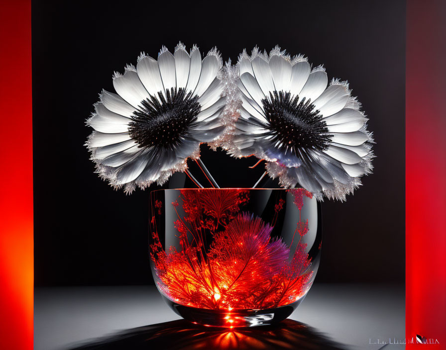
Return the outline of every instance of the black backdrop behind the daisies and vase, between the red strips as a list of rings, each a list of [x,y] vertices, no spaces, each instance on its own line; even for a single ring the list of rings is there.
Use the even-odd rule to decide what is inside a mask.
[[[33,1],[36,285],[153,283],[149,191],[114,191],[94,174],[85,119],[113,71],[162,45],[279,45],[348,80],[370,118],[374,174],[344,203],[325,201],[317,281],[404,280],[405,1]],[[17,106],[19,108],[20,106]],[[263,170],[203,149],[222,186],[252,186]],[[194,169],[193,169],[194,170]],[[183,181],[182,175],[172,186]]]

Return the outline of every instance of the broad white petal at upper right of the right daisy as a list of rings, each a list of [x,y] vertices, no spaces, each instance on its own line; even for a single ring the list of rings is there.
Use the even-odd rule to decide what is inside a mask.
[[[324,117],[333,115],[345,107],[350,94],[341,84],[329,86],[314,102],[315,109],[319,109]]]

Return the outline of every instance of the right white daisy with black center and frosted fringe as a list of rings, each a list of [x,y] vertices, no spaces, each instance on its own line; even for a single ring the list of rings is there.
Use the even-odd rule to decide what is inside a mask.
[[[238,59],[239,118],[223,146],[236,157],[265,160],[284,187],[345,199],[371,172],[372,135],[348,84],[311,69],[301,55],[254,48]],[[228,142],[228,140],[230,140]]]

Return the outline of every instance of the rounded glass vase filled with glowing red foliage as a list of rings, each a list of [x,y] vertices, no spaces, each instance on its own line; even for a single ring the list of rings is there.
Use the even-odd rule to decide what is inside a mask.
[[[152,191],[156,286],[194,323],[233,328],[282,321],[316,276],[319,212],[303,188]]]

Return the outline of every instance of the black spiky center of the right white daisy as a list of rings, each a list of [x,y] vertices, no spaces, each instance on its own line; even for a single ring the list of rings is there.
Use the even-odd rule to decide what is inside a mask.
[[[262,103],[278,148],[294,152],[299,148],[328,149],[331,137],[324,134],[327,123],[310,99],[299,101],[299,96],[291,98],[290,92],[274,91]]]

